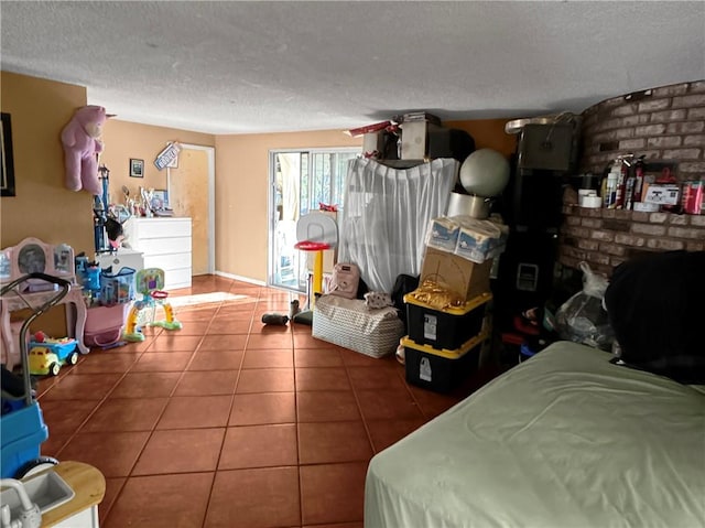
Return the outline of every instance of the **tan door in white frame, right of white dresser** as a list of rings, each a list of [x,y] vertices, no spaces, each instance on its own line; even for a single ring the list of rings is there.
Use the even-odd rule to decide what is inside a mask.
[[[166,169],[174,216],[192,219],[192,274],[215,272],[215,148],[180,143],[177,166]]]

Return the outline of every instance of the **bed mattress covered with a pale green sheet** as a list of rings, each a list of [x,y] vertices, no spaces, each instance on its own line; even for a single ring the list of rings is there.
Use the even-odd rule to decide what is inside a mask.
[[[378,453],[365,527],[705,526],[705,392],[551,345]]]

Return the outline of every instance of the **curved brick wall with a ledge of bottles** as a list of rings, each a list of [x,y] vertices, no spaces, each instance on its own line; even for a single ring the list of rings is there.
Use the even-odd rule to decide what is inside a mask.
[[[617,155],[677,162],[679,181],[705,180],[705,80],[615,97],[583,112],[579,172],[601,174]],[[705,250],[705,216],[564,205],[558,260],[595,271],[647,251]]]

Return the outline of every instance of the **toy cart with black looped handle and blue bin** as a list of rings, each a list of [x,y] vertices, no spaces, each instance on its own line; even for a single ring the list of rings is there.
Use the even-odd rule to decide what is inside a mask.
[[[57,284],[59,289],[41,306],[32,306],[20,292],[20,284],[29,280],[43,280]],[[0,473],[2,478],[22,478],[39,467],[56,465],[55,459],[40,456],[40,444],[48,438],[48,429],[42,418],[42,410],[32,395],[30,377],[29,351],[26,334],[32,321],[66,297],[70,283],[58,277],[45,273],[30,273],[6,284],[0,290],[0,297],[19,295],[25,302],[32,314],[24,321],[20,330],[20,356],[22,359],[22,382],[4,366],[2,367],[2,414],[0,416],[0,445],[2,463]],[[14,382],[13,382],[14,381]]]

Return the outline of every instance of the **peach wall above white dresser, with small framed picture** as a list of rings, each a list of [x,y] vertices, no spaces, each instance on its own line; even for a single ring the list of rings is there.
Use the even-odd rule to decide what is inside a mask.
[[[110,108],[107,110],[110,114]],[[127,185],[130,190],[130,197],[139,196],[140,186],[166,188],[166,170],[156,169],[154,159],[164,150],[169,141],[214,147],[215,136],[121,121],[120,116],[117,116],[106,122],[102,141],[105,151],[100,155],[100,162],[110,170],[110,198],[113,203],[124,203],[122,185]],[[130,176],[130,158],[144,160],[144,177]],[[176,171],[178,169],[172,170],[172,176]],[[207,181],[206,174],[204,185]]]

